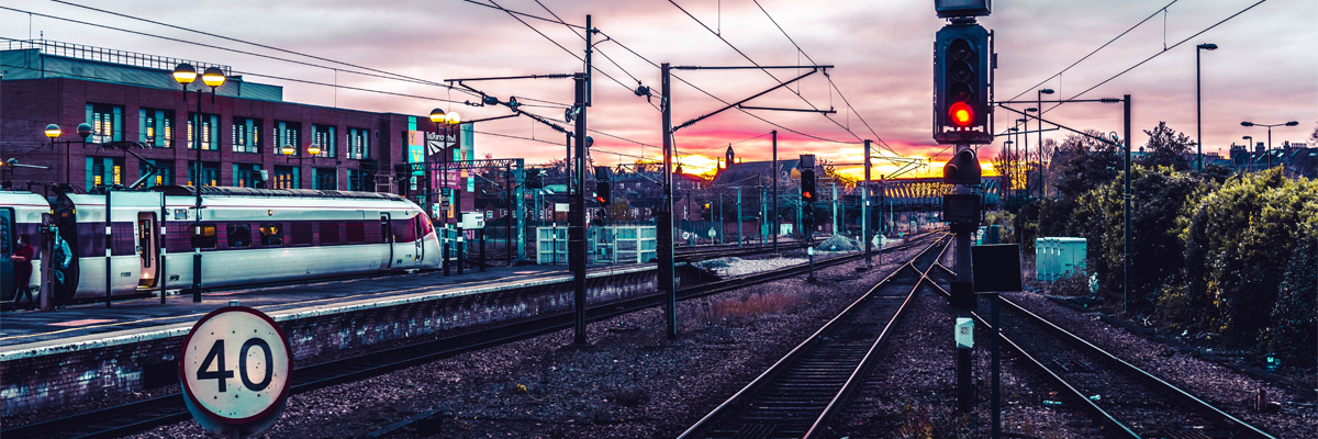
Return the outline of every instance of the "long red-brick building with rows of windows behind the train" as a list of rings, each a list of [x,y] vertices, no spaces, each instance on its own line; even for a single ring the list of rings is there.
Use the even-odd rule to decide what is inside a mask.
[[[212,98],[198,78],[185,96],[171,74],[181,62],[198,71],[219,67],[228,79]],[[199,87],[208,186],[389,191],[419,202],[424,181],[395,174],[395,165],[423,161],[426,142],[451,138],[435,136],[428,116],[283,102],[282,87],[203,62],[38,40],[0,50],[0,182],[36,192],[57,183],[75,191],[127,187],[144,177],[145,186],[192,185]],[[86,141],[76,133],[82,123],[94,131]],[[54,144],[47,124],[62,131]],[[471,125],[461,131],[452,153],[471,160]],[[311,146],[319,153],[311,156]],[[455,186],[463,206],[472,206],[467,181]]]

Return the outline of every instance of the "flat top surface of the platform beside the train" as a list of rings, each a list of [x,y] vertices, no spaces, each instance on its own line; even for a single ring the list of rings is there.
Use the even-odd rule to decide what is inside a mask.
[[[590,266],[588,276],[605,276],[654,269],[654,265]],[[356,278],[312,281],[299,285],[245,287],[211,291],[202,302],[190,294],[71,305],[55,311],[0,312],[0,361],[16,355],[40,355],[42,347],[69,349],[75,345],[104,344],[107,340],[186,334],[210,311],[237,305],[261,310],[275,320],[299,315],[344,312],[362,307],[393,306],[444,295],[480,294],[493,290],[543,285],[571,279],[564,265],[525,265],[489,268],[486,272],[378,274]],[[37,349],[37,351],[34,351]],[[20,353],[18,351],[24,351]]]

